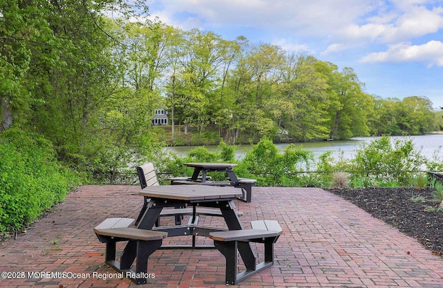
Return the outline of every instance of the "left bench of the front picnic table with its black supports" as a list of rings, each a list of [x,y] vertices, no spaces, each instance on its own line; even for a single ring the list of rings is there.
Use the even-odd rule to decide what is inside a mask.
[[[94,228],[98,239],[106,243],[105,262],[123,276],[136,284],[147,282],[147,258],[156,249],[161,247],[163,239],[168,233],[128,227],[134,222],[131,218],[108,218]],[[116,261],[116,242],[127,241],[125,250]],[[131,270],[132,263],[136,260],[136,271]],[[145,276],[145,277],[143,277]]]

